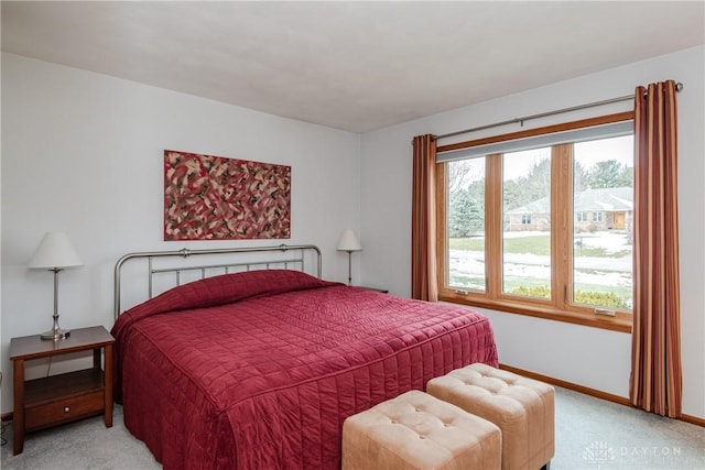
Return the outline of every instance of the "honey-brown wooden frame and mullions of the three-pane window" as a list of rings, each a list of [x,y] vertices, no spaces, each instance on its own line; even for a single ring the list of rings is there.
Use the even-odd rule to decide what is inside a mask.
[[[633,111],[583,119],[491,138],[449,145],[438,145],[436,152],[487,145],[566,130],[633,121]],[[501,261],[502,250],[502,168],[501,154],[486,156],[485,173],[485,291],[448,286],[447,259],[447,162],[436,163],[436,250],[438,299],[474,307],[566,321],[608,330],[631,332],[631,311],[616,310],[615,316],[596,314],[599,307],[581,306],[573,302],[573,143],[552,145],[551,157],[551,292],[552,299],[528,298],[502,293],[502,266],[489,269],[492,260]],[[567,197],[570,196],[570,197]],[[570,204],[565,204],[570,200]]]

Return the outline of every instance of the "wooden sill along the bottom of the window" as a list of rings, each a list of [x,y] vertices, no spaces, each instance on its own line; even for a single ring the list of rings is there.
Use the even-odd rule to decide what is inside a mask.
[[[452,304],[468,305],[471,307],[487,308],[490,310],[506,311],[509,314],[525,315],[529,317],[543,318],[546,320],[564,321],[574,325],[582,325],[592,328],[601,328],[611,331],[620,331],[631,334],[631,315],[625,313],[617,313],[614,317],[584,314],[581,311],[566,311],[546,307],[532,307],[527,305],[519,305],[511,302],[502,300],[484,300],[484,299],[470,299],[460,296],[438,296],[441,302],[449,302]]]

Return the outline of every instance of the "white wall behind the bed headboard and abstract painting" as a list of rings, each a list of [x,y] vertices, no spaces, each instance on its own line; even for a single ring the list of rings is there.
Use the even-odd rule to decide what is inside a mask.
[[[2,54],[2,413],[10,338],[52,326],[52,274],[26,269],[45,231],[65,231],[85,263],[59,277],[65,328],[112,326],[112,267],[132,251],[315,243],[324,277],[347,282],[335,248],[360,223],[359,145],[358,134]],[[291,240],[162,241],[164,149],[291,165]]]

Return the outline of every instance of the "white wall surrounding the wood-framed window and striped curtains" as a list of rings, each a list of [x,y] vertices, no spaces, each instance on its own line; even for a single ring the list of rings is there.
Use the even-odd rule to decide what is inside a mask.
[[[364,134],[361,236],[366,242],[361,262],[365,283],[387,286],[401,296],[410,295],[411,140],[414,135],[444,134],[631,95],[637,85],[669,78],[682,81],[679,203],[683,411],[705,417],[704,57],[704,47],[699,46]],[[627,109],[631,109],[629,102],[530,121],[524,128]],[[519,130],[518,124],[463,135],[455,141],[514,130]],[[485,311],[492,321],[502,363],[628,396],[629,335]]]

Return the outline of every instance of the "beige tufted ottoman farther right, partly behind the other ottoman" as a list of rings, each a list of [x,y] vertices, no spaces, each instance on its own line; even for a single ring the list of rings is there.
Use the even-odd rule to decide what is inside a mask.
[[[502,470],[549,467],[554,447],[553,386],[476,363],[432,379],[431,395],[502,430]]]

